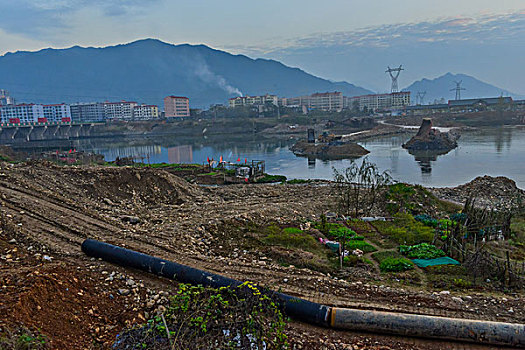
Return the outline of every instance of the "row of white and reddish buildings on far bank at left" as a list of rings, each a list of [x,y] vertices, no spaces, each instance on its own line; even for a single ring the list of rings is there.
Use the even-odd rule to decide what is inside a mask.
[[[74,104],[16,104],[5,90],[0,90],[0,122],[20,123],[70,123],[104,122],[109,120],[154,120],[186,118],[190,116],[189,99],[183,96],[164,98],[164,114],[156,105],[134,101],[92,102]]]

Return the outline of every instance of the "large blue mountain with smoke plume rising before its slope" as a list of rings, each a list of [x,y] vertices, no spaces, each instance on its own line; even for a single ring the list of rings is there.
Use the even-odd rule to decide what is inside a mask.
[[[240,94],[293,97],[325,91],[342,91],[347,96],[371,93],[274,60],[154,39],[104,48],[75,46],[7,53],[0,56],[0,88],[23,102],[126,99],[162,105],[167,95],[183,95],[190,98],[192,107],[226,103]]]

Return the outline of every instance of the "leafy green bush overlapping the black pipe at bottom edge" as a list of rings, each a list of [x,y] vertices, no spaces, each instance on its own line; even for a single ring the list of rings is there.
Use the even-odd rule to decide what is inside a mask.
[[[287,349],[279,304],[251,283],[180,284],[163,316],[125,330],[112,349]]]

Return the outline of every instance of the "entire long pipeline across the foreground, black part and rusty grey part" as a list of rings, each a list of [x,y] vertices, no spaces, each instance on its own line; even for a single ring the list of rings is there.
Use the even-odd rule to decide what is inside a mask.
[[[213,288],[236,287],[242,284],[231,278],[92,239],[87,239],[82,243],[82,251],[95,258],[154,273],[182,283],[201,284]],[[402,336],[525,347],[525,325],[523,324],[331,308],[283,293],[272,293],[272,295],[283,303],[288,316],[314,325]]]

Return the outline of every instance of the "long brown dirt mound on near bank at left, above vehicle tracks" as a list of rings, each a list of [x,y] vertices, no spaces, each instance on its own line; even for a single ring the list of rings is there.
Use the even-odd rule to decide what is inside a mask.
[[[202,196],[195,185],[151,168],[59,167],[49,162],[34,162],[12,167],[5,172],[4,179],[31,192],[45,192],[52,198],[76,198],[77,202],[181,204]]]

